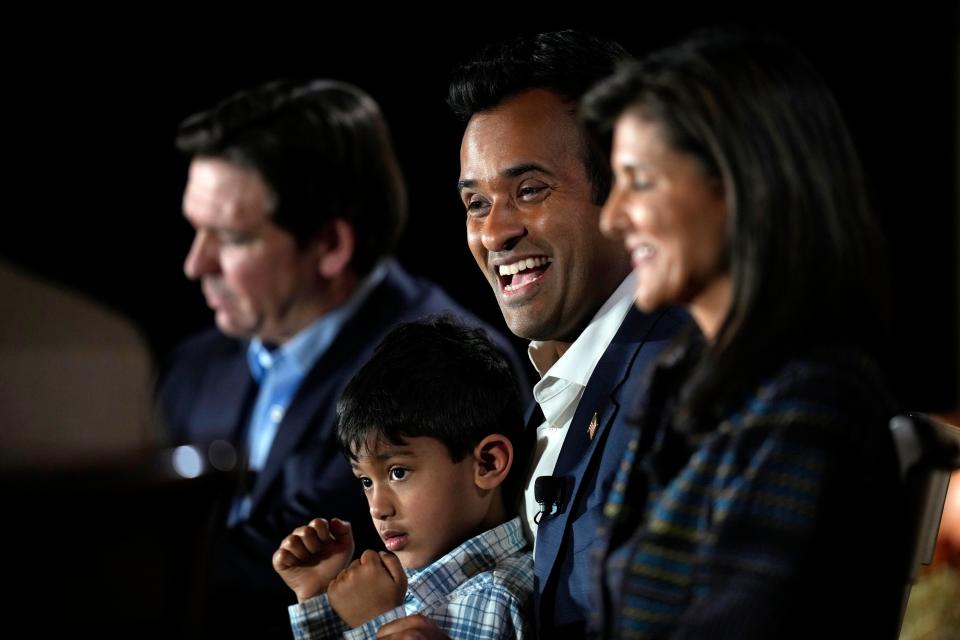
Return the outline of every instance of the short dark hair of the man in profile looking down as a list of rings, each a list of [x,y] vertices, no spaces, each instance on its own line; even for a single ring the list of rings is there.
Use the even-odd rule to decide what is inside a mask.
[[[406,190],[373,98],[333,80],[280,80],[187,118],[177,147],[256,171],[274,197],[273,221],[305,247],[333,219],[356,234],[351,266],[366,274],[393,251]]]

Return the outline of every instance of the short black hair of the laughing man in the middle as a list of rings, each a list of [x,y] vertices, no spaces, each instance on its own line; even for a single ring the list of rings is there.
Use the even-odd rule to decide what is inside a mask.
[[[546,89],[570,103],[575,114],[580,98],[611,75],[630,54],[616,42],[582,31],[554,31],[518,36],[488,45],[453,74],[447,104],[466,122],[532,89]],[[602,204],[610,192],[606,155],[584,139],[584,166],[593,184],[593,200]]]

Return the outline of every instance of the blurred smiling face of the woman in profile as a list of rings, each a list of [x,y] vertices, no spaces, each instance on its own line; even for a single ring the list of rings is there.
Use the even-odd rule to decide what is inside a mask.
[[[712,338],[731,299],[722,183],[637,110],[617,120],[611,162],[614,185],[600,227],[630,252],[637,307],[686,305]]]

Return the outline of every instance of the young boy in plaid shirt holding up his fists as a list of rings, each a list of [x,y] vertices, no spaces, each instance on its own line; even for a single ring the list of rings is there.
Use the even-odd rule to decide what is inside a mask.
[[[337,414],[389,551],[351,563],[350,524],[337,518],[287,536],[273,567],[297,595],[294,637],[372,638],[413,613],[456,638],[532,635],[533,559],[514,513],[522,473],[510,474],[522,409],[485,334],[444,317],[394,329]]]

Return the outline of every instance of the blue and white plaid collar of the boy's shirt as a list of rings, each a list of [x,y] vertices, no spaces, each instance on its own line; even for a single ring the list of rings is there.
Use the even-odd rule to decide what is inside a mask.
[[[527,546],[520,518],[513,518],[470,538],[422,569],[407,570],[407,593],[420,601],[438,592],[450,593]]]

